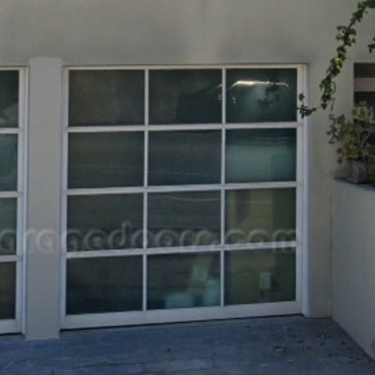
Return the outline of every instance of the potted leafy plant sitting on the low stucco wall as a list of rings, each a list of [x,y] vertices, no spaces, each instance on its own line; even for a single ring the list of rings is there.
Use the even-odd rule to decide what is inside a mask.
[[[374,109],[362,102],[352,111],[352,119],[345,115],[331,116],[333,121],[327,134],[330,143],[337,143],[338,162],[348,162],[347,180],[356,184],[370,181],[375,166]]]

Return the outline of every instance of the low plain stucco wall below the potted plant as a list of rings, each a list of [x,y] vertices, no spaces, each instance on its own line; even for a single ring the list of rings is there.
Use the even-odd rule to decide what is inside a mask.
[[[375,357],[375,188],[333,192],[333,318]]]

